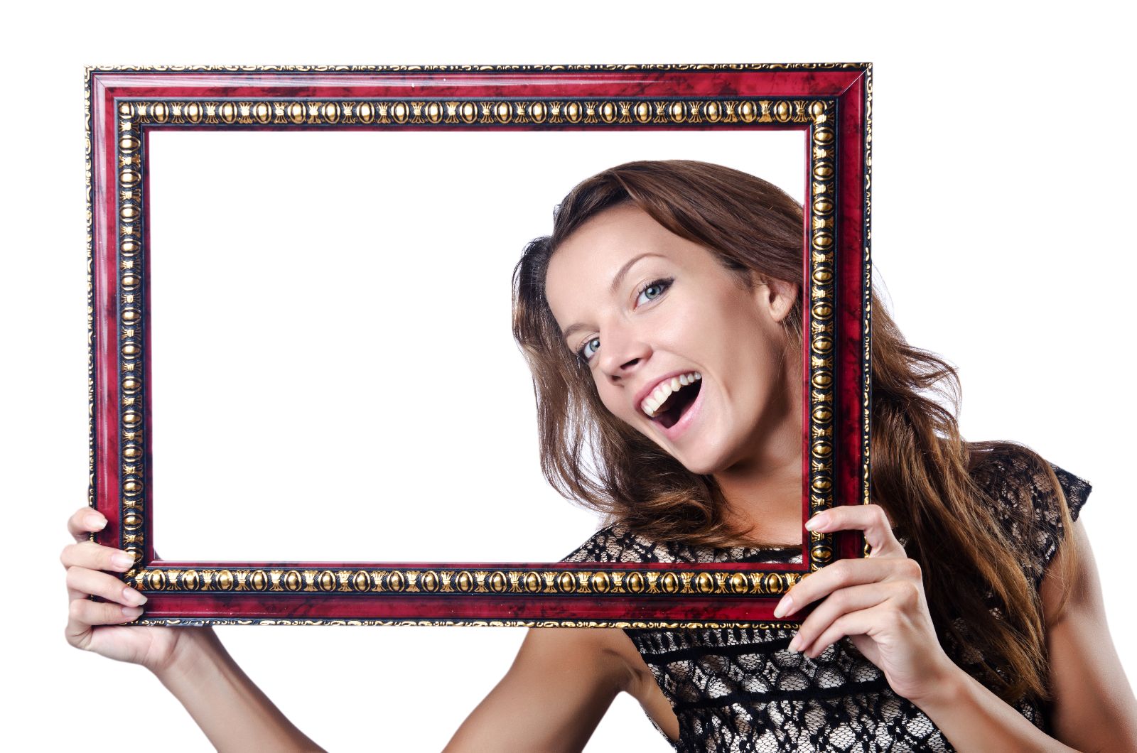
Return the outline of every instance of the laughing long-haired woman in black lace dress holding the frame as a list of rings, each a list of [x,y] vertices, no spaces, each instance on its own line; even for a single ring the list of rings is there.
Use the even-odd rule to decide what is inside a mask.
[[[629,163],[573,189],[529,246],[514,334],[542,466],[613,520],[567,560],[799,555],[800,229],[756,177]],[[954,371],[875,298],[872,313],[874,504],[807,524],[861,529],[871,554],[787,594],[778,617],[815,605],[800,629],[531,630],[448,751],[580,750],[622,690],[684,751],[1137,750],[1073,522],[1088,483],[1020,445],[963,441],[921,395]],[[315,747],[211,631],[94,627],[141,613],[98,572],[130,563],[82,540],[101,522],[72,518],[68,639],[150,668],[218,747]]]

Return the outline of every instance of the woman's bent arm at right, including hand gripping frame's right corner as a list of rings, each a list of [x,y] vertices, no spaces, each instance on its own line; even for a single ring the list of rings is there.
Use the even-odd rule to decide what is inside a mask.
[[[824,598],[798,628],[790,651],[816,657],[825,646],[849,636],[865,659],[885,672],[893,690],[919,706],[958,751],[1072,750],[1035,727],[944,652],[928,612],[920,565],[907,557],[879,505],[838,506],[818,513],[805,527],[861,529],[872,551],[866,557],[840,560],[806,576],[782,597],[775,618]],[[1074,530],[1084,543],[1081,526]],[[1077,573],[1052,574],[1060,558],[1052,560],[1047,568],[1051,584],[1044,580],[1040,594],[1044,619],[1054,624],[1047,654],[1057,689],[1057,734],[1087,752],[1137,752],[1132,692],[1105,628],[1088,541],[1085,549]],[[1071,599],[1060,617],[1055,602],[1064,582],[1070,584]],[[1095,651],[1101,655],[1093,657]],[[1111,698],[1111,693],[1120,697]],[[1088,719],[1106,727],[1090,728],[1087,717],[1080,715],[1095,706],[1097,715]]]

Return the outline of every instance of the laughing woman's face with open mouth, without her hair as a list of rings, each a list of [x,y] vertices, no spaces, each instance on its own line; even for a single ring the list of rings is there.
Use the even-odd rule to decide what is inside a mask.
[[[795,286],[767,279],[747,290],[712,251],[621,205],[554,253],[546,295],[608,411],[689,471],[762,463],[787,449],[769,447],[773,437],[800,441],[799,423],[786,430],[799,421],[788,373],[799,356],[780,324]],[[645,404],[665,397],[662,383],[680,389]]]

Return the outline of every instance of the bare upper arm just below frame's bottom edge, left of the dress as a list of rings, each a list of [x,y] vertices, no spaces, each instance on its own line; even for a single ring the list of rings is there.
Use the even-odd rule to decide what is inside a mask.
[[[500,682],[443,753],[581,751],[621,690],[637,682],[623,630],[530,629]]]

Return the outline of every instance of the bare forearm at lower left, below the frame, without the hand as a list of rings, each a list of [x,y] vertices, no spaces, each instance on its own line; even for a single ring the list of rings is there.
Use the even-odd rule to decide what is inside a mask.
[[[186,635],[155,675],[218,751],[321,751],[238,667],[213,631]]]

